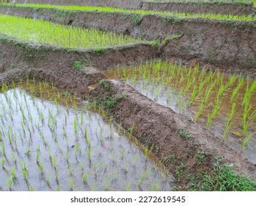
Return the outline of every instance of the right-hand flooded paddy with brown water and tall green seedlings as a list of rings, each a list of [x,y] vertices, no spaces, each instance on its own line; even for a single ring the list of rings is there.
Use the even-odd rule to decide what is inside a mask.
[[[235,149],[249,147],[255,159],[255,79],[239,74],[228,77],[219,71],[199,69],[198,65],[189,68],[162,60],[118,67],[105,75],[124,79],[154,102],[200,121],[215,135],[228,138]]]

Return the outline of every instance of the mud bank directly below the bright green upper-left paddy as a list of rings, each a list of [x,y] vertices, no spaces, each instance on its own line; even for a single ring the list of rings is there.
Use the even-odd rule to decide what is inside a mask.
[[[0,87],[3,82],[30,76],[83,95],[88,92],[88,85],[103,79],[100,71],[148,60],[156,57],[156,53],[157,49],[148,43],[79,50],[31,44],[0,35]]]

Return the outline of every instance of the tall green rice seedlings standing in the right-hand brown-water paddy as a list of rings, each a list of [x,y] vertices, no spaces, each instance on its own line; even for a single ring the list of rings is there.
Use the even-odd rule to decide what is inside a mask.
[[[163,60],[127,68],[117,67],[114,71],[108,71],[106,76],[125,79],[131,85],[136,85],[140,79],[150,82],[150,89],[156,96],[159,88],[167,88],[170,93],[176,90],[176,104],[181,104],[182,100],[184,108],[196,110],[193,120],[206,119],[207,128],[212,126],[215,119],[220,121],[226,116],[226,123],[223,124],[224,138],[232,130],[232,125],[233,128],[241,128],[243,149],[249,139],[255,136],[255,79],[238,74],[227,77],[219,71],[199,69],[198,65],[186,67]],[[186,97],[185,100],[181,99],[182,96]],[[167,98],[170,96],[167,95]],[[173,100],[170,99],[170,102]]]

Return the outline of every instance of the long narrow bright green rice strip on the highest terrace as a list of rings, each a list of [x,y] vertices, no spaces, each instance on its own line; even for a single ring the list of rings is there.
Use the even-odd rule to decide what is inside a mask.
[[[221,14],[204,14],[204,13],[173,13],[152,10],[128,10],[114,7],[91,7],[91,6],[59,6],[52,4],[1,4],[3,6],[15,7],[34,7],[34,8],[53,8],[60,10],[79,10],[79,11],[98,11],[106,13],[133,13],[138,15],[163,15],[173,18],[210,18],[217,20],[234,20],[234,21],[255,21],[252,15],[221,15]]]

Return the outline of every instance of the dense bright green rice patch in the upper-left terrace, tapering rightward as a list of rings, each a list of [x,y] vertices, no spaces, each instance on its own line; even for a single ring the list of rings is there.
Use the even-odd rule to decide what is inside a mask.
[[[0,15],[0,33],[18,40],[66,48],[102,49],[106,46],[141,42],[140,39],[118,35],[114,32],[63,26],[49,21],[10,15]]]

